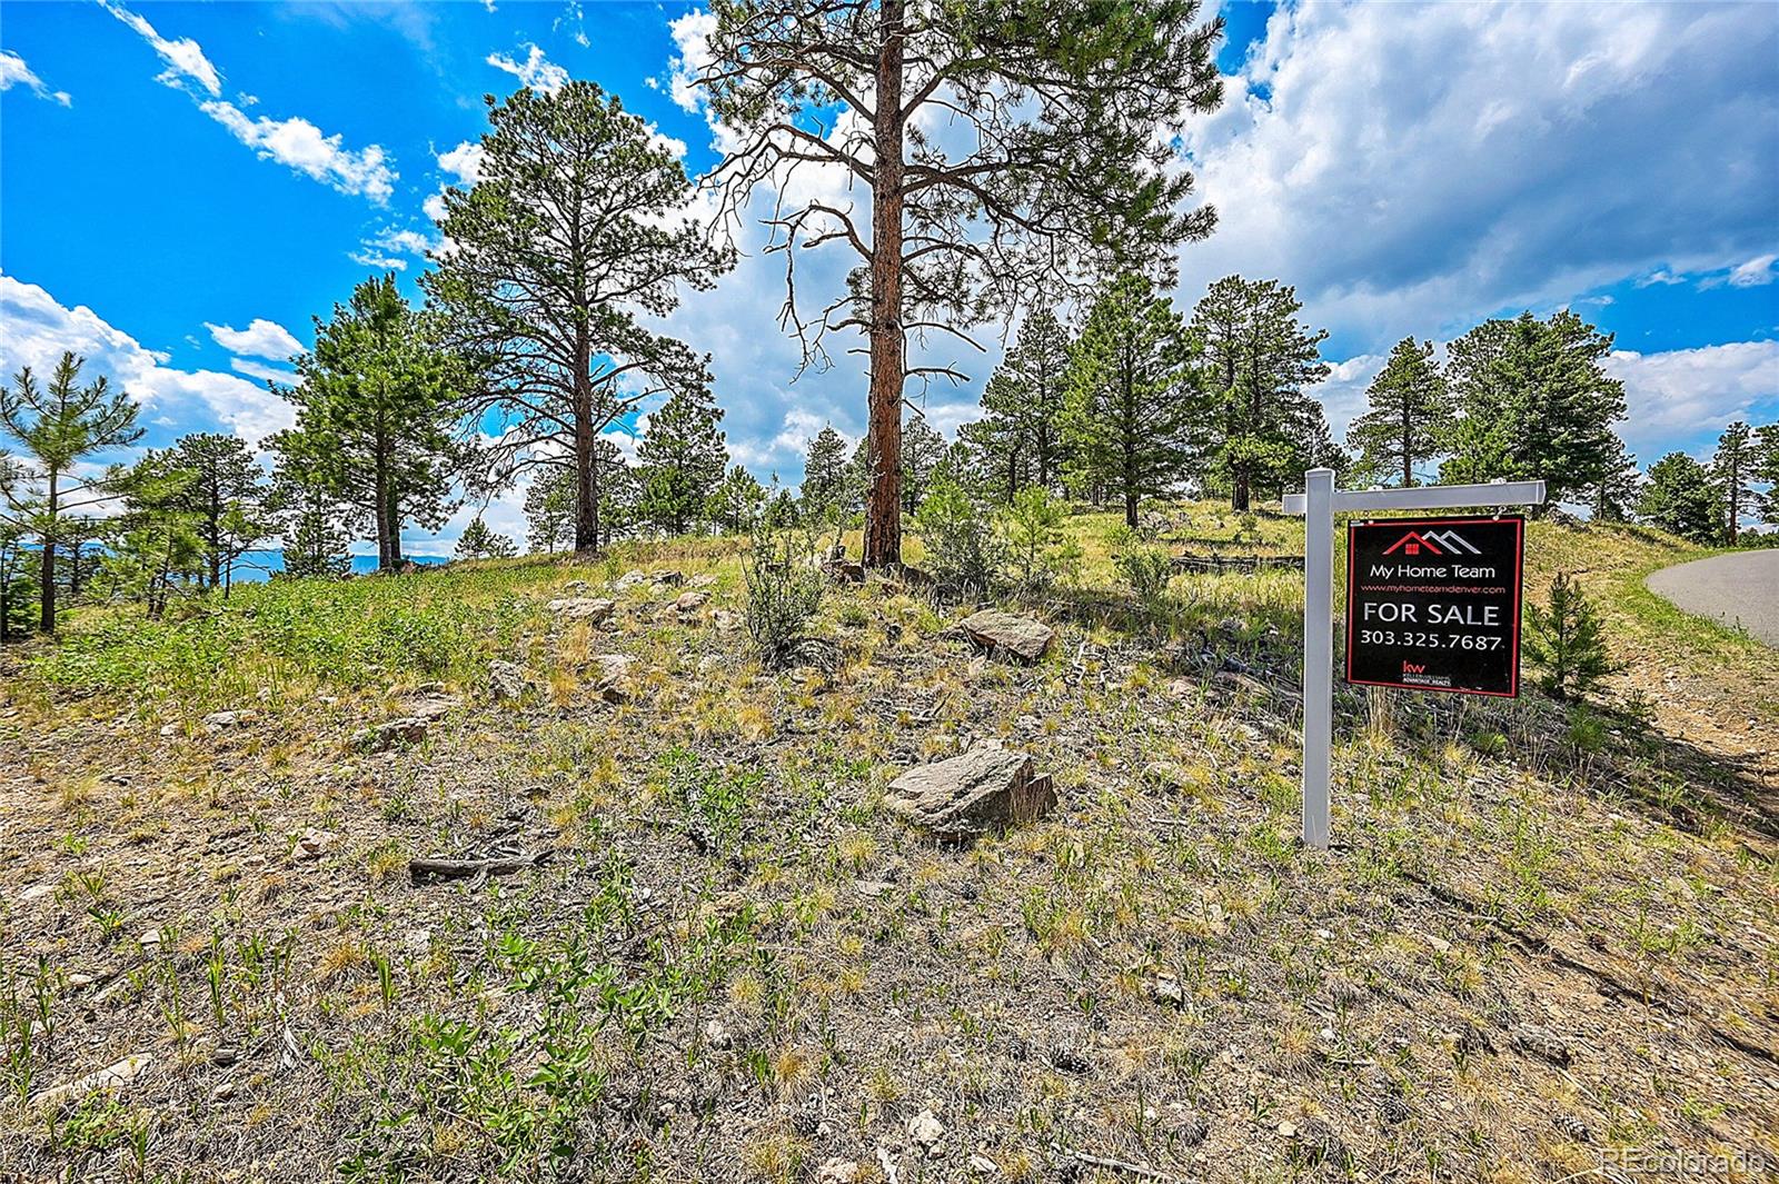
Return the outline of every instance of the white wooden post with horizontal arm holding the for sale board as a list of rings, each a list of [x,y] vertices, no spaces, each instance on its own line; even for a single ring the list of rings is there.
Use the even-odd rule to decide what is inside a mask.
[[[1544,482],[1334,489],[1334,469],[1304,473],[1284,512],[1304,516],[1304,846],[1329,844],[1329,748],[1334,743],[1334,514],[1542,505]]]

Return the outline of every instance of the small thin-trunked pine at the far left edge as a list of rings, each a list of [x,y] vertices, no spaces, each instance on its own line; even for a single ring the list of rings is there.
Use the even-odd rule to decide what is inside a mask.
[[[80,386],[85,359],[64,352],[39,388],[30,366],[0,386],[0,437],[11,436],[25,459],[0,452],[0,517],[37,539],[37,628],[55,633],[55,553],[66,516],[117,498],[121,469],[101,478],[75,476],[73,468],[94,453],[125,448],[142,437],[137,405],[101,377]]]

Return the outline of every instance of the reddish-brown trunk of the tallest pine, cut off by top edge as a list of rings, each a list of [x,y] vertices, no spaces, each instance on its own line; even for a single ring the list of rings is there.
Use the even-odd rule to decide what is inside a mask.
[[[865,498],[865,565],[902,562],[902,55],[904,0],[882,0],[877,53],[877,178],[872,187],[872,388]]]

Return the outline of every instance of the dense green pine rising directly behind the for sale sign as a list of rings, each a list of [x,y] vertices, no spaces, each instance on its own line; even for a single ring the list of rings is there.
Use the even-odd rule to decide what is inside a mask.
[[[1601,363],[1612,334],[1562,309],[1489,320],[1453,341],[1446,384],[1457,404],[1443,482],[1544,480],[1548,503],[1592,496],[1621,455],[1612,425],[1624,384]]]

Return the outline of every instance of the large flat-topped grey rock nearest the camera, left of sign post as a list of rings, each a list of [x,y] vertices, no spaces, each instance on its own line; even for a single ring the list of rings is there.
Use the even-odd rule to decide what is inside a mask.
[[[1025,752],[978,745],[902,773],[890,782],[884,804],[941,839],[973,839],[1042,818],[1057,804],[1057,789]]]

